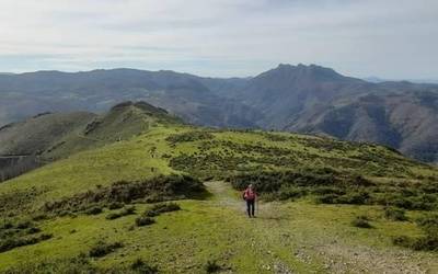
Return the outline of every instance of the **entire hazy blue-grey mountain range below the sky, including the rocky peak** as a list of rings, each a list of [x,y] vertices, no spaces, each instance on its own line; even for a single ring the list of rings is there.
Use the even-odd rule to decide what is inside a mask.
[[[315,65],[230,79],[134,69],[0,75],[0,125],[139,100],[197,125],[327,135],[438,161],[438,84],[376,83]]]

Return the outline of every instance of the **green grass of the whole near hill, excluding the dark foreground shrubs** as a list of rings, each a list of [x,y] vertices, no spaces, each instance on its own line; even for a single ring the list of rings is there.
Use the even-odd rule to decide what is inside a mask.
[[[0,208],[0,214],[7,219],[31,218],[38,216],[38,209],[46,203],[69,201],[89,192],[106,193],[119,181],[143,182],[160,174],[184,172],[211,180],[258,171],[301,174],[293,176],[290,185],[269,182],[278,189],[264,193],[273,193],[272,199],[276,201],[277,191],[281,191],[284,199],[293,198],[295,202],[261,203],[258,218],[249,219],[239,193],[223,183],[226,186],[215,186],[224,187],[223,192],[210,189],[210,196],[185,196],[188,199],[173,196],[182,209],[172,214],[161,214],[162,208],[169,209],[168,206],[147,204],[148,201],[107,201],[101,205],[104,214],[36,218],[37,227],[53,238],[0,253],[0,272],[18,267],[21,262],[39,265],[47,258],[60,260],[59,265],[67,260],[65,264],[68,265],[81,253],[89,256],[87,265],[102,270],[122,267],[132,271],[132,263],[140,258],[148,262],[145,269],[153,265],[163,273],[205,273],[209,261],[238,273],[270,273],[275,267],[297,273],[323,273],[327,271],[325,267],[336,272],[337,266],[331,265],[331,260],[354,261],[344,250],[360,253],[369,248],[373,255],[388,258],[391,262],[393,252],[400,249],[393,246],[393,238],[424,236],[419,225],[394,221],[392,217],[385,217],[382,205],[368,201],[370,197],[388,201],[382,195],[396,191],[401,194],[400,205],[434,205],[431,196],[418,193],[434,186],[434,178],[438,175],[436,169],[373,145],[243,130],[203,129],[205,134],[197,133],[194,137],[192,130],[200,129],[160,125],[131,139],[79,152],[2,183],[0,203],[5,206]],[[324,171],[330,172],[321,173]],[[361,180],[356,180],[358,174],[362,175]],[[424,179],[418,179],[419,175]],[[353,186],[350,179],[372,185]],[[309,187],[310,182],[322,185]],[[349,182],[348,187],[344,187],[345,182]],[[241,183],[244,185],[246,181]],[[373,186],[380,187],[380,192],[368,195],[360,192]],[[434,193],[434,187],[429,193]],[[314,198],[323,195],[343,198],[345,203],[315,204]],[[328,201],[330,197],[325,198]],[[361,205],[364,202],[368,205]],[[136,210],[123,214],[125,203],[130,203]],[[111,209],[114,212],[110,213]],[[153,213],[153,225],[137,227],[136,219],[141,219],[140,225],[143,220],[151,221],[146,220],[150,216],[138,213]],[[111,214],[117,218],[107,218]],[[373,229],[351,226],[351,219],[361,215],[372,219]],[[407,208],[405,215],[411,220],[420,213]],[[99,259],[90,258],[88,251],[100,241],[106,244],[119,242],[123,247],[111,249],[112,252]],[[322,251],[324,254],[320,253]],[[306,256],[301,255],[303,253]],[[429,263],[434,260],[437,260],[435,253],[418,259],[430,272],[438,271],[438,265]],[[377,267],[372,263],[367,265]],[[374,270],[379,272],[379,269]]]

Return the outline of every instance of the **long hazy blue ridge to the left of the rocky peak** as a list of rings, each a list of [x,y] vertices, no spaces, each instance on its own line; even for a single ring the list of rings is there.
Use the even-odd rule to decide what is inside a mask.
[[[208,82],[215,84],[214,80]],[[257,116],[238,102],[219,98],[197,77],[173,71],[114,69],[0,76],[0,124],[47,111],[104,112],[129,100],[146,100],[194,124],[254,126],[245,117]]]

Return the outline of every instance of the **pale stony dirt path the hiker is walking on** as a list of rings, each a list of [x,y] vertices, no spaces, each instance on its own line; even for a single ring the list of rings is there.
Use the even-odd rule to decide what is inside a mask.
[[[228,183],[206,182],[205,185],[214,194],[209,203],[232,208],[235,214],[245,217],[243,201]],[[350,242],[343,235],[330,235],[319,229],[311,231],[312,227],[308,231],[299,230],[297,227],[303,220],[291,217],[290,210],[285,210],[285,207],[280,203],[260,203],[257,218],[250,228],[242,228],[251,229],[254,252],[265,253],[275,261],[273,265],[264,267],[268,272],[434,273],[430,270],[437,266],[434,256],[428,254],[368,247]]]

